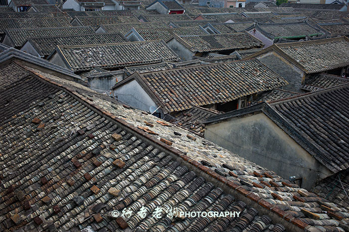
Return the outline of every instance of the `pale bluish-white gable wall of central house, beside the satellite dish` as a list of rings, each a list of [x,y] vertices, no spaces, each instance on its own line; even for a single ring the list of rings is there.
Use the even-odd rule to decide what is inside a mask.
[[[121,100],[134,108],[141,109],[143,111],[149,111],[151,106],[158,108],[154,101],[148,96],[148,94],[142,89],[137,81],[130,81],[113,91],[114,97]]]

